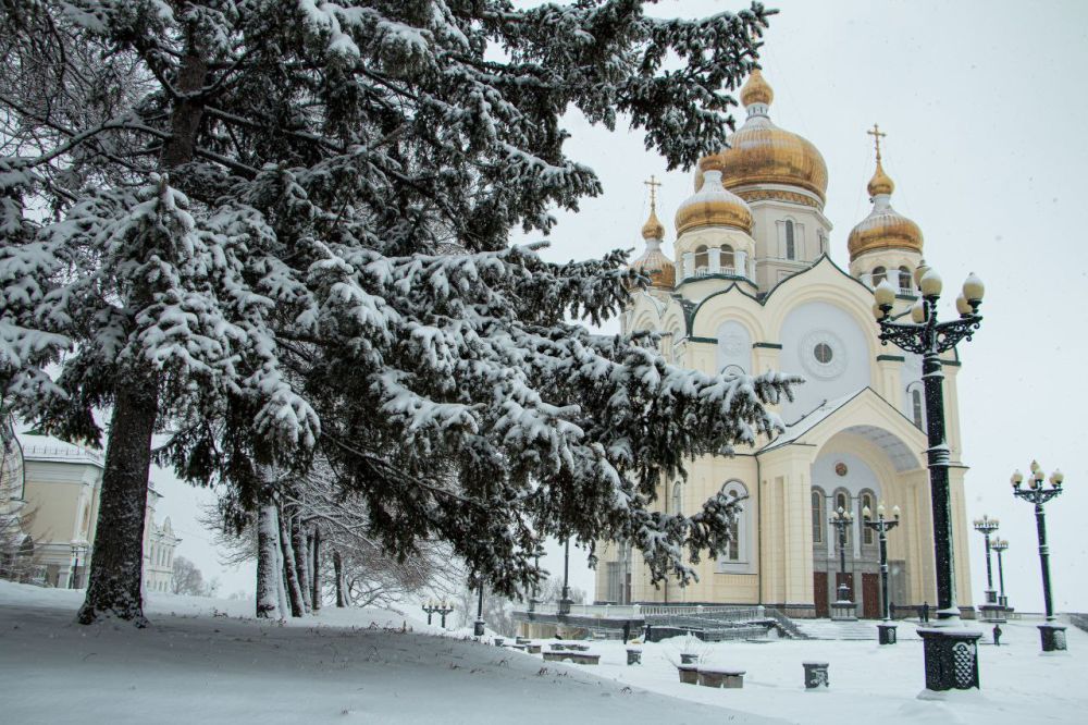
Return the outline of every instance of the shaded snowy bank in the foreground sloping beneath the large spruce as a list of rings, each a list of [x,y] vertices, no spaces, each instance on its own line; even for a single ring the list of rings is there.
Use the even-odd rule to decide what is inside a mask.
[[[780,722],[430,636],[437,628],[387,612],[322,610],[280,627],[237,618],[252,602],[159,594],[151,626],[136,630],[74,624],[81,601],[0,581],[0,723]],[[398,631],[405,624],[415,631]]]

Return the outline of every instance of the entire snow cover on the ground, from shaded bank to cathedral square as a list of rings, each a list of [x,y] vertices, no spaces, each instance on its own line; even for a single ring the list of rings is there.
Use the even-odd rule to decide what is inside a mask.
[[[249,618],[252,602],[152,594],[152,626],[72,623],[82,592],[0,581],[0,722],[53,723],[1083,723],[1088,721],[1088,635],[1070,652],[1039,653],[1035,623],[1010,622],[996,648],[986,628],[982,689],[919,700],[922,643],[901,641],[639,646],[626,665],[618,641],[593,642],[601,665],[459,639],[380,610],[322,610],[275,626]],[[390,629],[385,629],[385,628]],[[409,631],[400,632],[406,627]],[[679,681],[690,648],[703,662],[747,672],[744,688]],[[804,689],[806,660],[830,663],[827,691]],[[671,696],[671,697],[665,697]],[[673,699],[678,698],[678,699]],[[772,720],[770,720],[772,718]]]

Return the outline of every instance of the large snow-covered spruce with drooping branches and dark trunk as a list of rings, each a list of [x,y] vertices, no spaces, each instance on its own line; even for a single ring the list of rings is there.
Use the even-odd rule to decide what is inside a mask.
[[[157,430],[182,476],[251,511],[261,471],[305,468],[320,441],[388,551],[445,540],[507,593],[551,533],[630,540],[658,577],[720,550],[728,502],[646,504],[687,457],[774,429],[762,403],[789,381],[591,335],[566,320],[617,312],[622,256],[507,248],[601,191],[562,152],[569,109],[629,118],[670,167],[724,145],[767,12],[643,4],[0,9],[0,383],[66,438],[97,439],[111,410],[82,620],[141,617]]]

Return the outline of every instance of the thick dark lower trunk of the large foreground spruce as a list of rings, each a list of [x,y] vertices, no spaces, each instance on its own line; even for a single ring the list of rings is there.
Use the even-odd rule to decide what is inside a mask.
[[[116,390],[90,582],[79,609],[79,624],[110,615],[138,627],[147,624],[140,590],[151,435],[159,413],[157,377],[149,368],[133,370]]]

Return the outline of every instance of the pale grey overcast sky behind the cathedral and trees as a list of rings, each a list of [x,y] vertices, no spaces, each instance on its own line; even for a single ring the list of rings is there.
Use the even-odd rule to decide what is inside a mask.
[[[1088,346],[1088,3],[768,2],[771,19],[762,64],[775,89],[771,119],[813,142],[830,177],[825,213],[834,229],[832,258],[849,262],[846,236],[869,210],[871,137],[878,122],[892,205],[915,220],[925,257],[944,278],[949,309],[960,283],[986,283],[986,320],[961,346],[960,405],[967,514],[1001,519],[1010,604],[1041,611],[1039,557],[1029,504],[1014,500],[1009,476],[1037,457],[1061,467],[1067,491],[1047,506],[1055,605],[1088,611],[1088,543],[1077,512],[1088,508],[1084,390]],[[707,15],[734,2],[663,1],[659,15]],[[743,120],[743,110],[735,113]],[[559,214],[545,253],[555,259],[641,250],[647,209],[642,182],[663,182],[659,216],[671,254],[671,218],[691,194],[688,172],[666,173],[638,134],[608,134],[569,119],[568,152],[599,174],[605,193],[578,214]],[[636,251],[638,254],[638,251]],[[159,482],[195,560],[223,591],[251,592],[252,567],[221,570],[208,532],[193,520],[210,500],[176,481]],[[910,512],[905,515],[910,516]],[[894,534],[892,534],[894,536]],[[974,600],[981,601],[982,537],[970,532]],[[561,573],[561,550],[551,557]],[[582,557],[584,558],[584,557]],[[592,574],[572,563],[572,583],[592,597]]]

